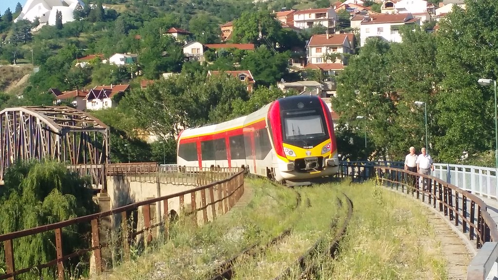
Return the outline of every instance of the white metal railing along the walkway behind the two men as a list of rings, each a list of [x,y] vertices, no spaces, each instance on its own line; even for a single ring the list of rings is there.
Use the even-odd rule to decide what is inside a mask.
[[[404,168],[402,161],[342,161],[341,163],[344,165]],[[368,172],[367,169],[366,172]],[[494,167],[434,163],[434,172],[431,175],[473,194],[498,200],[496,169]]]

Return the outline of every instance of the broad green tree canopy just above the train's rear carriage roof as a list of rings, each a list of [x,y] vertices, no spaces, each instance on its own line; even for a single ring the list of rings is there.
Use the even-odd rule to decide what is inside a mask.
[[[167,139],[182,128],[226,120],[235,100],[249,99],[246,85],[230,75],[183,73],[132,90],[120,106],[140,128]],[[150,112],[155,112],[150,114]]]

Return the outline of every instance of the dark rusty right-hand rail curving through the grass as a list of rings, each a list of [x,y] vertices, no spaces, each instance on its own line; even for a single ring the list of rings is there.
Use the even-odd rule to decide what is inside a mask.
[[[301,271],[303,271],[299,277],[299,279],[310,279],[313,275],[316,275],[317,269],[319,268],[319,263],[318,260],[323,260],[324,258],[329,255],[331,258],[336,257],[337,250],[339,249],[339,242],[341,239],[344,237],[346,233],[346,229],[348,227],[348,224],[351,220],[351,217],[353,215],[353,202],[351,199],[345,194],[344,199],[346,201],[347,207],[348,207],[348,214],[346,216],[346,219],[344,220],[340,230],[338,233],[335,235],[334,240],[332,243],[329,244],[328,248],[324,250],[319,256],[317,256],[317,253],[320,251],[320,245],[324,242],[326,239],[325,237],[320,238],[317,240],[313,246],[311,246],[310,249],[306,251],[303,255],[301,255],[297,261],[292,264],[291,266],[287,267],[278,277],[274,278],[274,280],[280,280],[283,279],[286,276],[289,276],[292,272],[292,267],[298,265]],[[339,198],[337,198],[337,204],[341,208],[343,206],[343,201]],[[338,214],[339,215],[339,214]],[[330,229],[333,230],[333,228],[337,224],[337,220],[339,219],[338,216],[334,217],[333,221],[330,224]],[[309,263],[309,264],[308,264]]]

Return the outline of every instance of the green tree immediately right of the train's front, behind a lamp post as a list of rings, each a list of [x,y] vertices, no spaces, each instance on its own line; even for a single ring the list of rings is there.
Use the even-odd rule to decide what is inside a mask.
[[[386,148],[392,138],[389,126],[395,114],[391,100],[393,87],[387,53],[390,45],[378,38],[371,38],[360,54],[352,57],[348,67],[338,76],[337,98],[332,106],[341,116],[340,123],[349,123],[362,133],[367,119],[367,134],[375,144],[378,155],[393,155]]]

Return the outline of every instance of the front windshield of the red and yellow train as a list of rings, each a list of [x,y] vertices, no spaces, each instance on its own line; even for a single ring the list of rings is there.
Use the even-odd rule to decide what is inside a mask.
[[[283,120],[285,140],[306,140],[327,136],[322,119],[322,116],[316,115],[315,110],[286,112]]]

